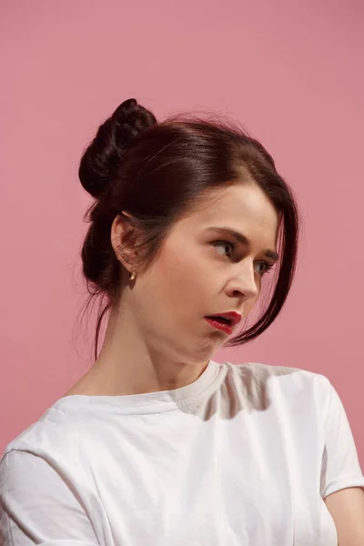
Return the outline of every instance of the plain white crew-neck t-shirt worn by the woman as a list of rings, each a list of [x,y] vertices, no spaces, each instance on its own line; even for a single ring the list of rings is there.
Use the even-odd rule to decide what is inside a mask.
[[[58,399],[0,464],[5,546],[337,546],[364,487],[325,376],[218,364],[180,389]]]

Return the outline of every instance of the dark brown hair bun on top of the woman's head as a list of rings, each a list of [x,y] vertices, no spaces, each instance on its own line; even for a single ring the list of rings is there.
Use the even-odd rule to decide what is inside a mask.
[[[80,182],[92,197],[103,195],[126,150],[142,131],[156,123],[156,117],[147,108],[138,105],[135,98],[129,98],[98,127],[78,169]]]

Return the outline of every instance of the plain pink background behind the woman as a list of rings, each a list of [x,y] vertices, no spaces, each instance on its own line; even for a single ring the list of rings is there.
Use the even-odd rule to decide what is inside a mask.
[[[305,221],[298,276],[260,339],[213,359],[326,375],[364,466],[363,54],[358,0],[8,0],[0,29],[0,450],[85,373],[83,147],[135,96],[157,116],[238,117]]]

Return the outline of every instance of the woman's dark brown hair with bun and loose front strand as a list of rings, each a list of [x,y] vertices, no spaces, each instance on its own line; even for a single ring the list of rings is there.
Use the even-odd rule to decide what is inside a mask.
[[[82,248],[87,305],[96,296],[106,301],[97,317],[95,359],[101,321],[120,294],[122,265],[110,239],[114,218],[122,211],[131,215],[128,223],[144,236],[138,248],[147,268],[178,219],[200,206],[208,192],[237,183],[256,183],[278,211],[281,258],[265,312],[225,346],[257,338],[276,319],[296,268],[298,207],[273,158],[238,124],[190,116],[157,123],[147,108],[131,98],[98,128],[78,175],[96,199],[86,212],[90,226]]]

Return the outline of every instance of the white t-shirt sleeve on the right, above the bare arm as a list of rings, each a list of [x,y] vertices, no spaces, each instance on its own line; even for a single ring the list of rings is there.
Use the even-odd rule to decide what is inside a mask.
[[[320,494],[324,499],[331,493],[348,487],[364,488],[364,476],[347,413],[339,394],[328,378],[325,376],[319,378],[319,410],[325,442]]]

